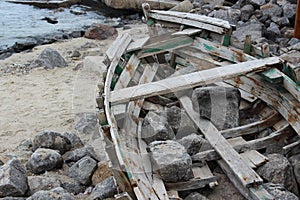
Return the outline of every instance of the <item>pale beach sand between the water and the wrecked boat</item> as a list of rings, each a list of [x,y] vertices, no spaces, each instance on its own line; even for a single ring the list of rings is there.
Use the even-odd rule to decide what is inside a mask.
[[[139,35],[144,25],[133,25]],[[118,30],[119,34],[124,32]],[[104,53],[113,38],[97,41],[76,38],[35,47],[29,53],[17,53],[0,60],[0,67],[24,65],[46,47],[53,48],[68,62],[68,67],[46,70],[37,68],[27,74],[0,76],[0,153],[14,150],[20,142],[43,130],[75,130],[78,114],[96,112],[97,84],[102,81]],[[73,50],[81,56],[70,57]],[[83,63],[83,67],[78,67]]]

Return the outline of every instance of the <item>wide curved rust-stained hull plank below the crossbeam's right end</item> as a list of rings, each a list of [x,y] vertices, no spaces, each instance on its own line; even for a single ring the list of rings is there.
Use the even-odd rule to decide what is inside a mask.
[[[274,87],[258,75],[236,77],[226,82],[272,105],[300,135],[300,103],[289,92]]]

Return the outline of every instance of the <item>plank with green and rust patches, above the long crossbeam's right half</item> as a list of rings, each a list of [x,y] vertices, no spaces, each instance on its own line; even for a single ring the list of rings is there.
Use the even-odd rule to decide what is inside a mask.
[[[201,50],[202,52],[210,53],[225,60],[229,60],[233,63],[255,60],[254,57],[249,56],[248,54],[245,54],[240,50],[225,47],[220,44],[202,39],[200,37],[196,37],[194,47]]]

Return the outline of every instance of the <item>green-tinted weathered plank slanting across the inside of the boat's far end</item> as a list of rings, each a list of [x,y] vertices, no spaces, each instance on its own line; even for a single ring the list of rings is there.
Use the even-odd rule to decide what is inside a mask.
[[[144,58],[154,54],[159,54],[180,47],[188,46],[193,42],[194,40],[188,36],[177,36],[174,38],[170,38],[168,40],[160,41],[159,43],[144,46],[138,53],[138,58]]]

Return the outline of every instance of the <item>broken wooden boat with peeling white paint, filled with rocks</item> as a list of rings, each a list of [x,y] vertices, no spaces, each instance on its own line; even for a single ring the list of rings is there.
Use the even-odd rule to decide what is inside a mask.
[[[245,198],[274,199],[255,168],[267,162],[262,154],[267,148],[292,154],[299,147],[299,71],[270,56],[267,44],[251,45],[250,37],[243,50],[231,47],[234,27],[227,21],[148,5],[144,12],[149,35],[124,34],[113,42],[97,99],[111,169],[124,192],[119,198],[180,199],[180,191],[214,188],[222,183],[208,163],[216,162]],[[238,126],[218,129],[200,116],[191,93],[207,86],[239,90]],[[193,178],[177,182],[163,181],[153,169],[142,137],[147,113],[172,106],[183,110],[211,145],[191,156]]]

